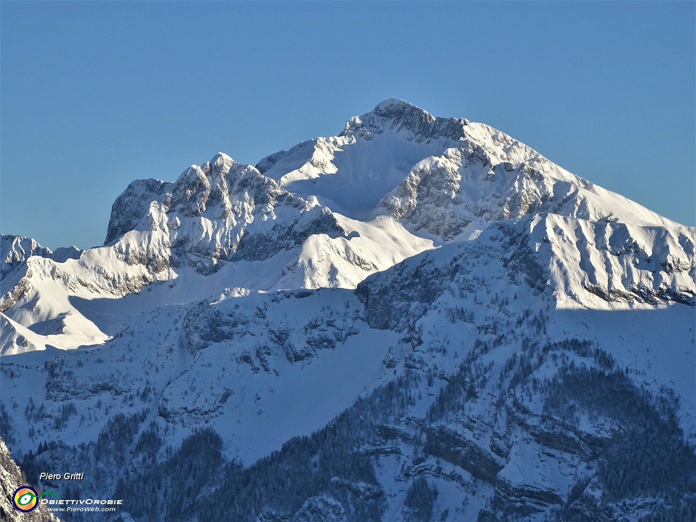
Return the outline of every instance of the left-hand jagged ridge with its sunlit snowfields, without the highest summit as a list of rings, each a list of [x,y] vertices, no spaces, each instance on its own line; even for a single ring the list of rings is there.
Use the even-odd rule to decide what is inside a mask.
[[[13,241],[3,239],[8,253],[0,309],[47,337],[26,344],[26,337],[6,333],[3,353],[102,343],[113,328],[93,319],[93,309],[103,307],[92,303],[152,283],[166,281],[177,290],[155,292],[160,301],[151,296],[136,309],[190,302],[226,287],[355,287],[432,247],[391,219],[362,223],[333,214],[223,154],[187,168],[173,184],[130,184],[113,205],[103,247],[77,255],[51,253],[30,239]],[[110,323],[129,317],[130,310]]]

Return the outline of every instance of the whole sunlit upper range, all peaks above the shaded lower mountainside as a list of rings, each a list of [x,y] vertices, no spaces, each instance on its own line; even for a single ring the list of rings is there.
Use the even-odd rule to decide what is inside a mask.
[[[537,213],[586,223],[577,234],[555,225],[542,234],[565,234],[553,242],[553,255],[580,267],[555,269],[560,306],[628,303],[626,285],[638,301],[652,299],[640,296],[642,288],[690,291],[693,228],[567,173],[487,125],[434,118],[390,99],[351,118],[340,136],[303,142],[257,168],[220,153],[175,182],[132,182],[113,204],[104,247],[51,253],[31,239],[3,237],[0,308],[26,328],[41,324],[42,335],[61,332],[32,346],[78,347],[112,335],[84,316],[89,301],[118,299],[155,282],[180,291],[156,292],[161,301],[151,306],[226,287],[351,288],[434,245]],[[597,251],[613,254],[642,244],[648,248],[642,262],[655,264],[587,258],[585,245],[595,242]],[[43,260],[30,267],[31,255]],[[177,283],[182,277],[185,285]],[[599,299],[579,288],[594,289]],[[178,301],[169,299],[174,293]]]

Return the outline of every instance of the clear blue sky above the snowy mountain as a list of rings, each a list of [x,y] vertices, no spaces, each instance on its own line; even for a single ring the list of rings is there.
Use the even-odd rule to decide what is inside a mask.
[[[111,203],[396,96],[694,226],[686,2],[0,3],[0,230],[102,244]]]

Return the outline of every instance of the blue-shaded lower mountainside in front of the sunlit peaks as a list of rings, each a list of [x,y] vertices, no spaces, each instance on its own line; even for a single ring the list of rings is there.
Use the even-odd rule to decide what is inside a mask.
[[[323,506],[317,513],[326,516],[327,509],[340,511],[330,509],[335,503],[347,513],[376,503],[377,518],[347,519],[405,521],[413,509],[406,501],[415,494],[411,487],[422,488],[422,482],[413,486],[419,477],[440,492],[432,510],[453,521],[491,509],[541,520],[584,498],[585,490],[574,490],[577,484],[590,488],[591,497],[619,494],[621,488],[602,482],[610,480],[603,459],[624,458],[617,457],[624,451],[615,441],[617,430],[638,443],[637,426],[666,416],[651,429],[667,441],[665,448],[686,451],[674,457],[675,465],[691,462],[681,429],[696,432],[688,414],[696,404],[693,371],[683,371],[696,370],[694,333],[681,326],[693,317],[693,307],[663,292],[654,305],[643,303],[644,311],[625,310],[630,317],[590,314],[615,310],[557,309],[556,259],[542,265],[537,255],[559,248],[544,244],[545,226],[582,228],[578,223],[548,215],[501,221],[472,241],[447,244],[370,276],[355,292],[235,289],[155,308],[104,347],[3,358],[9,378],[4,393],[14,401],[4,406],[10,418],[5,429],[23,454],[49,434],[82,448],[56,447],[31,459],[30,470],[46,459],[77,459],[90,462],[91,473],[106,474],[104,466],[113,467],[104,457],[111,445],[127,448],[129,458],[154,466],[119,465],[128,470],[128,484],[138,487],[141,480],[169,480],[171,473],[150,469],[174,459],[164,451],[168,445],[189,452],[184,448],[203,444],[207,439],[196,427],[205,425],[220,437],[215,458],[237,459],[250,466],[249,477],[257,477],[238,478],[242,472],[232,468],[219,472],[224,480],[235,491],[244,484],[260,491],[240,495],[233,505],[240,511],[221,518],[247,519],[241,503],[265,498],[268,516],[299,512],[305,503]],[[537,251],[539,244],[544,248]],[[655,324],[668,332],[658,335],[664,341],[659,349]],[[617,326],[624,335],[612,333]],[[593,377],[591,368],[610,377]],[[608,380],[597,383],[600,378]],[[669,395],[667,385],[677,395]],[[577,413],[563,409],[559,397],[577,400],[574,390],[593,387],[596,404],[580,400]],[[644,401],[642,410],[617,413],[614,395]],[[342,423],[343,416],[349,420]],[[317,429],[311,442],[286,443]],[[159,442],[150,448],[148,441]],[[100,461],[91,457],[97,454]],[[256,462],[269,454],[275,457]],[[313,493],[294,498],[296,507],[278,500],[278,491],[289,494],[283,487],[269,493],[255,482],[282,475],[286,466],[301,470],[303,459],[317,477],[329,475],[325,484],[303,478]],[[344,462],[353,467],[338,464]],[[200,491],[219,487],[206,477]],[[90,485],[104,494],[117,487],[108,481]],[[344,489],[354,496],[342,496]],[[627,498],[635,499],[631,494]],[[662,493],[654,494],[658,500],[637,500],[646,513],[664,502]],[[582,509],[593,519],[601,510],[591,500],[585,498]],[[612,514],[598,520],[632,520],[631,506],[610,503],[604,509]],[[144,516],[171,520],[166,511]]]

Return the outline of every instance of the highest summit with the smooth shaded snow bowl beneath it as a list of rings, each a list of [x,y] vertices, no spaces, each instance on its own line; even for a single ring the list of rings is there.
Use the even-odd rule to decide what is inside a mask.
[[[374,218],[377,203],[425,157],[464,143],[468,121],[434,118],[391,98],[350,118],[338,136],[303,141],[258,162],[256,168],[296,196],[351,219]]]

